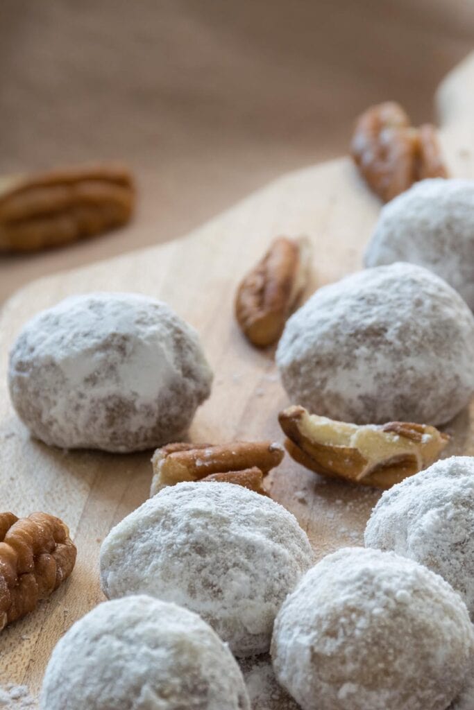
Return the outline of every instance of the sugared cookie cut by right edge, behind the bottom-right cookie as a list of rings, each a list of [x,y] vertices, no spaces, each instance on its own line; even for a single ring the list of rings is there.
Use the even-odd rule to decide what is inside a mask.
[[[441,574],[474,618],[474,458],[437,461],[385,491],[365,528],[365,545]]]

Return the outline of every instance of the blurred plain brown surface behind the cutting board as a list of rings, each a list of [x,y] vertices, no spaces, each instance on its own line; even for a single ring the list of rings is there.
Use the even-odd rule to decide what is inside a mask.
[[[342,155],[372,103],[434,119],[473,37],[474,0],[0,0],[0,173],[119,159],[139,186],[126,229],[0,256],[0,301]]]

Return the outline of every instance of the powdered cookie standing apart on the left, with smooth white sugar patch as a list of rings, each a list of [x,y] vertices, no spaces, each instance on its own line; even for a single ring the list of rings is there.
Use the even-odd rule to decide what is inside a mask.
[[[65,448],[131,452],[174,441],[211,381],[195,330],[132,293],[67,298],[33,317],[10,354],[18,416]]]

